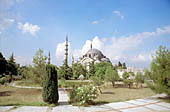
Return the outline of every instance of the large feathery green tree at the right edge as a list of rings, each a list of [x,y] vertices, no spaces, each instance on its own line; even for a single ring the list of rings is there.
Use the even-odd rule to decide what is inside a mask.
[[[149,87],[157,93],[170,96],[170,49],[160,46],[151,63],[150,78],[154,84]]]

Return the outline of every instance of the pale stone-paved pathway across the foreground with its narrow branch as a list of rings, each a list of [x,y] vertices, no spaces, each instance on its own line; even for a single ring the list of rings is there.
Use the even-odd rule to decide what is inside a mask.
[[[170,112],[170,103],[159,101],[156,95],[143,99],[129,100],[125,102],[108,103],[104,105],[77,107],[68,103],[68,96],[64,89],[59,88],[59,106],[49,108],[47,106],[0,106],[0,112]]]

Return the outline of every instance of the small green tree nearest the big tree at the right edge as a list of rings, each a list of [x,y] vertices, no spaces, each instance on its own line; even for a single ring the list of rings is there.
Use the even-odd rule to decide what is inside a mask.
[[[139,86],[142,87],[142,83],[144,82],[144,76],[142,75],[141,72],[137,72],[135,76],[135,81],[136,81],[136,87]]]

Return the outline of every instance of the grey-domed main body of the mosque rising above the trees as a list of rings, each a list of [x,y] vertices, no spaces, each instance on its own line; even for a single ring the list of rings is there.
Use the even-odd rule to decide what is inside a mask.
[[[94,61],[94,64],[100,62],[110,62],[109,58],[103,55],[103,53],[98,49],[93,49],[91,44],[91,49],[87,51],[85,55],[79,58],[78,63],[86,66],[89,70],[90,63]]]

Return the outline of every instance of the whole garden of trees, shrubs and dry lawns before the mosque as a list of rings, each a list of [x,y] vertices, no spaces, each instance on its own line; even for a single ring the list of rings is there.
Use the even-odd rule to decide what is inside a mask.
[[[150,70],[145,70],[144,74],[124,72],[122,78],[117,69],[125,69],[125,64],[92,63],[90,69],[86,70],[81,64],[75,63],[65,69],[65,63],[61,67],[47,63],[42,50],[33,58],[33,66],[17,67],[13,56],[6,62],[2,57],[1,62],[10,62],[11,65],[5,67],[8,72],[1,71],[0,105],[58,105],[58,87],[65,88],[70,103],[76,106],[145,98],[156,93],[170,96],[170,52],[165,47],[160,47],[156,52]],[[16,68],[11,69],[11,66]],[[80,79],[80,76],[83,78]],[[42,89],[16,88],[11,87],[10,83]]]

